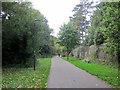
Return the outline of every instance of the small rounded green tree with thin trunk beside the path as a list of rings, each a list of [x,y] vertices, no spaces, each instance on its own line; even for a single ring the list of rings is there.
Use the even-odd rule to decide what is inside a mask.
[[[59,32],[60,45],[65,46],[67,48],[68,59],[71,50],[76,45],[79,44],[79,37],[77,33],[78,32],[74,30],[73,25],[71,23],[64,24],[60,28],[60,32]]]

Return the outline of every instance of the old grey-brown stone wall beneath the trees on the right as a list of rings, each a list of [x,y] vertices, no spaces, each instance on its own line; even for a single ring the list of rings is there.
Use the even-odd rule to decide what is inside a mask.
[[[80,46],[75,48],[72,51],[73,56],[75,57],[85,57],[85,58],[97,58],[97,59],[105,59],[105,60],[114,60],[117,61],[117,56],[108,55],[104,48],[105,45],[92,45],[92,46]]]

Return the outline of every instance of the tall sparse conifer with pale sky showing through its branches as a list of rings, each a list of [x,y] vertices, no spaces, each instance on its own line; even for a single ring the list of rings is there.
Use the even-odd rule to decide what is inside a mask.
[[[94,8],[93,2],[89,2],[88,0],[80,2],[80,4],[76,5],[73,9],[74,15],[71,18],[71,22],[73,22],[74,29],[78,30],[78,35],[80,39],[80,44],[85,40],[85,36],[88,33],[88,26],[90,21],[87,19],[91,15],[91,9]]]

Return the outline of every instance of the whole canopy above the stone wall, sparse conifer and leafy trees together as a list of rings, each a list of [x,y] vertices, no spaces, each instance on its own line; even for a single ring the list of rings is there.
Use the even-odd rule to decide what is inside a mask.
[[[119,2],[95,4],[95,2],[82,1],[76,5],[70,23],[73,23],[72,27],[79,31],[80,45],[105,44],[107,53],[118,55],[119,4]],[[89,16],[90,19],[87,19]]]

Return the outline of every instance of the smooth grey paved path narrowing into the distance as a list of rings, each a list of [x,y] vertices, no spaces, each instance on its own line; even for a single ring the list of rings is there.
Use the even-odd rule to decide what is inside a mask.
[[[52,65],[47,88],[111,88],[97,77],[85,72],[56,56]]]

